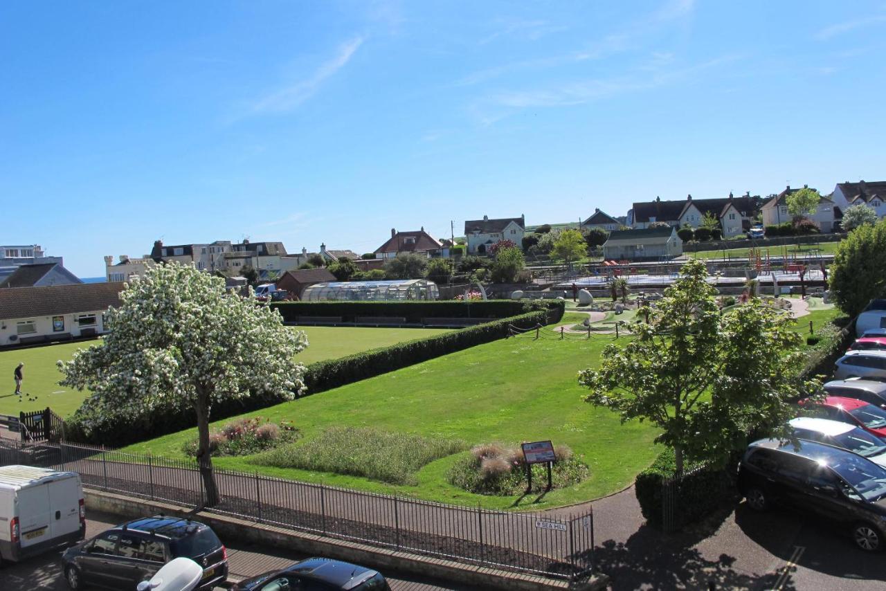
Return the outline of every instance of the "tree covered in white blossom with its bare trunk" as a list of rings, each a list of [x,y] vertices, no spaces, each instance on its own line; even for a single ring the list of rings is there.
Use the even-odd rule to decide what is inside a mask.
[[[213,405],[253,395],[291,400],[304,389],[307,346],[276,310],[226,290],[224,280],[177,263],[145,271],[120,292],[106,315],[103,343],[58,362],[60,384],[91,395],[83,416],[89,431],[108,421],[192,408],[206,504],[219,501],[209,451]]]

